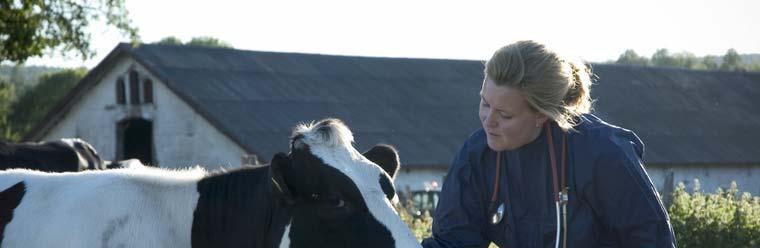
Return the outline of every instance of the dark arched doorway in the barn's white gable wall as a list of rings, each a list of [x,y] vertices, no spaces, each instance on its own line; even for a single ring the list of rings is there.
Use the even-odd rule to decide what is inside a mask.
[[[156,166],[153,155],[153,123],[145,119],[128,119],[117,128],[118,159],[139,159],[144,165]]]

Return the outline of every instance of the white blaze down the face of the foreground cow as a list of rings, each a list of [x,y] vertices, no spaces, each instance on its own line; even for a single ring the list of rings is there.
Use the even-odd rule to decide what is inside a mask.
[[[308,149],[324,164],[350,178],[372,217],[390,231],[395,247],[419,247],[393,207],[397,197],[388,199],[380,184],[381,177],[392,182],[390,175],[353,147],[353,134],[340,120],[299,125],[293,132],[292,142],[291,153]]]

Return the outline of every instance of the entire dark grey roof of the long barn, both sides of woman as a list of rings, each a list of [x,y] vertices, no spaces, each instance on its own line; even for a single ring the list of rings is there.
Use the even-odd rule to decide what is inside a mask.
[[[275,53],[173,45],[117,46],[221,132],[268,160],[299,122],[335,117],[365,150],[399,149],[408,167],[446,167],[477,129],[480,61]],[[760,74],[594,65],[596,114],[635,131],[647,163],[760,162]],[[88,86],[89,85],[89,86]],[[76,101],[72,93],[51,121]],[[60,118],[60,117],[59,117]],[[39,137],[43,124],[28,137]]]

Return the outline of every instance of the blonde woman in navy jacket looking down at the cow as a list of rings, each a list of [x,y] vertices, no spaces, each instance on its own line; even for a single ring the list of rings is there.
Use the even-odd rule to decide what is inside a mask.
[[[486,63],[482,129],[443,184],[425,248],[675,247],[631,131],[589,114],[590,71],[520,41]]]

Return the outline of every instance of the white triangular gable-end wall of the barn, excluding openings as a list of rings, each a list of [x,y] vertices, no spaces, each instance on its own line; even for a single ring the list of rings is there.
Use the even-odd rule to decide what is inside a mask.
[[[153,80],[153,104],[129,105],[127,74],[133,66],[140,75],[141,82],[146,77]],[[116,104],[116,80],[119,76],[125,80],[125,105]],[[161,167],[178,168],[200,164],[208,169],[216,169],[241,164],[245,150],[131,58],[121,59],[101,80],[78,100],[43,140],[80,137],[90,142],[103,159],[114,160],[117,123],[130,117],[141,117],[153,123],[155,160]]]

